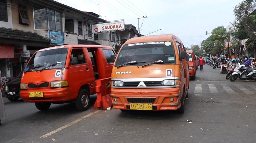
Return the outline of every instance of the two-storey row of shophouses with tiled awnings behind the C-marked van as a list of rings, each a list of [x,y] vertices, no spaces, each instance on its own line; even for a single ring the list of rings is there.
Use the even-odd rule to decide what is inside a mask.
[[[138,35],[136,27],[93,34],[92,24],[107,22],[54,0],[0,0],[0,70],[17,76],[41,48],[63,44],[121,45],[120,39]],[[124,38],[123,34],[129,34]]]

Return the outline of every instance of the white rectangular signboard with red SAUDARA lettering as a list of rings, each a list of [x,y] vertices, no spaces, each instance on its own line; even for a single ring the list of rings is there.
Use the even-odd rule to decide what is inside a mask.
[[[92,33],[124,30],[124,20],[92,24]]]

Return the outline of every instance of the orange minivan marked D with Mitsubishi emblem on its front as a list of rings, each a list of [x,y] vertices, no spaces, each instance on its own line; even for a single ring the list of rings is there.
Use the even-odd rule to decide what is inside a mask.
[[[110,94],[115,109],[184,113],[188,88],[186,50],[174,35],[132,38],[115,57]]]

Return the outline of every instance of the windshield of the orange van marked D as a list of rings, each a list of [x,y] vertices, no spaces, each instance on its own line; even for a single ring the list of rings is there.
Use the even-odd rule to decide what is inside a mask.
[[[137,61],[138,63],[136,66],[138,66],[149,64],[158,60],[162,60],[164,64],[176,63],[174,48],[171,42],[167,41],[126,44],[122,47],[117,57],[115,66],[120,66],[130,61]],[[134,64],[128,64],[125,66],[134,66]]]

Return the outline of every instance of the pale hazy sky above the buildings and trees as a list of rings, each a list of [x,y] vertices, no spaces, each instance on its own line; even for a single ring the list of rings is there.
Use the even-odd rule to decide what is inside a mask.
[[[100,18],[124,19],[140,34],[174,34],[185,47],[200,45],[218,26],[228,26],[235,20],[234,7],[242,0],[55,0],[75,9],[94,12]],[[162,29],[162,30],[160,30]],[[155,32],[156,31],[156,32]],[[150,34],[151,33],[151,34]]]

